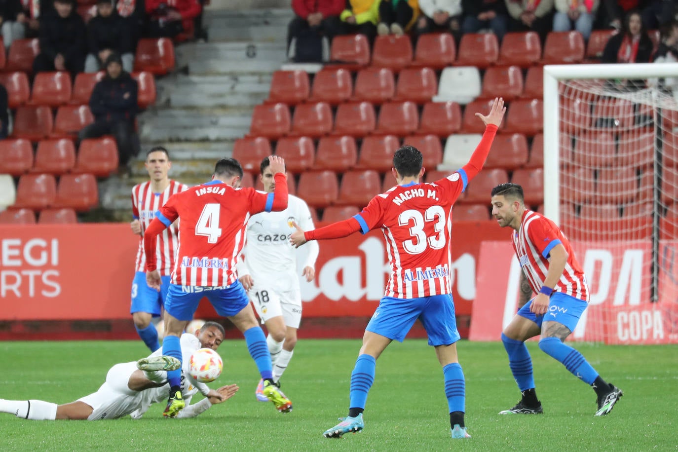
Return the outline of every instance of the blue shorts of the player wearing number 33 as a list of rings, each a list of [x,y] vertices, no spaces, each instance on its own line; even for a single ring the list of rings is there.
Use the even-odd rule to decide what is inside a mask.
[[[460,339],[454,303],[449,294],[420,298],[383,297],[365,329],[403,342],[416,319],[422,321],[430,346],[450,345]]]

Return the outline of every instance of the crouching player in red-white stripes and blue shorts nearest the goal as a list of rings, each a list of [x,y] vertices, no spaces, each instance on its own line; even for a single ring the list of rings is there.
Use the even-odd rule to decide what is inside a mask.
[[[515,229],[511,238],[523,268],[522,278],[537,294],[502,332],[509,367],[522,398],[515,407],[500,414],[543,413],[534,390],[532,358],[525,347],[525,341],[536,335],[541,335],[542,352],[593,388],[598,403],[595,415],[610,413],[622,391],[605,382],[580,352],[565,344],[565,338],[589,306],[589,286],[570,241],[554,222],[525,208],[523,188],[518,184],[492,188],[492,215],[502,228]]]

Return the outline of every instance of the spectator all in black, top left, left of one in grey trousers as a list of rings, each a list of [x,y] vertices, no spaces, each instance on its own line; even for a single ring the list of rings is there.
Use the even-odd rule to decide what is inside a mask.
[[[33,72],[68,70],[83,72],[87,54],[87,28],[75,11],[75,0],[54,0],[54,11],[40,18],[40,53]]]

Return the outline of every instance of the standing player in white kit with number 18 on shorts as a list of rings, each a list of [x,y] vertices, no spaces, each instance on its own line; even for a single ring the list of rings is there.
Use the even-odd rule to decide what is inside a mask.
[[[272,193],[275,180],[268,157],[262,161],[259,169],[264,192]],[[301,293],[296,274],[298,251],[290,245],[289,240],[290,233],[294,231],[293,222],[304,229],[313,229],[308,205],[291,194],[287,209],[252,215],[247,225],[247,242],[241,253],[245,260],[240,260],[237,266],[240,282],[268,330],[266,342],[271,353],[275,383],[279,382],[290,364],[301,322]],[[313,281],[318,244],[313,242],[309,245],[302,276],[306,281]],[[256,388],[256,398],[267,402],[263,390],[262,379]]]

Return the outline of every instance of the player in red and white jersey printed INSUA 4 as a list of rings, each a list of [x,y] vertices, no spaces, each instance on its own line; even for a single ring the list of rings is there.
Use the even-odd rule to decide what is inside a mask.
[[[161,276],[155,260],[157,234],[179,218],[179,245],[165,300],[163,355],[182,359],[179,336],[193,319],[201,298],[207,297],[216,312],[227,317],[245,335],[247,349],[264,379],[264,394],[278,411],[287,413],[292,410],[292,402],[273,382],[271,354],[264,331],[235,272],[250,217],[287,208],[285,161],[275,156],[269,159],[275,175],[272,193],[237,188],[243,177],[240,163],[235,159],[222,159],[216,163],[212,181],[169,198],[144,232],[146,282],[160,289]],[[170,389],[165,417],[176,416],[184,407],[180,376],[180,371],[167,373]]]

